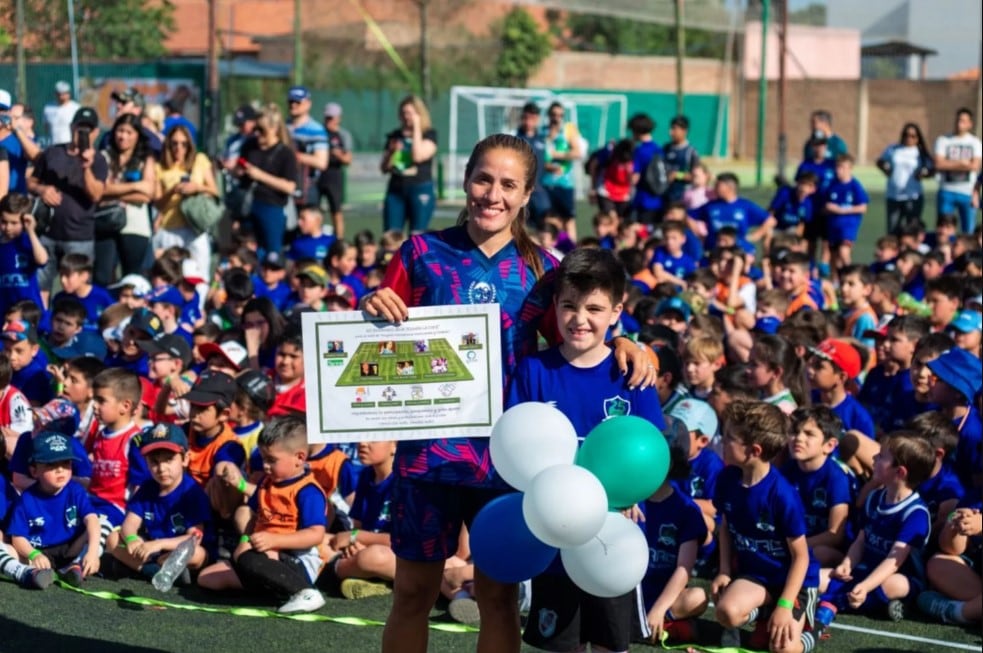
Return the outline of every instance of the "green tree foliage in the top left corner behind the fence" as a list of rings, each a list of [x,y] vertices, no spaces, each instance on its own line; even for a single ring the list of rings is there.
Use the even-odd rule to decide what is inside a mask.
[[[73,1],[81,57],[122,60],[150,59],[167,54],[164,39],[175,28],[171,0]],[[25,21],[30,58],[66,59],[70,56],[66,0],[27,0]]]

